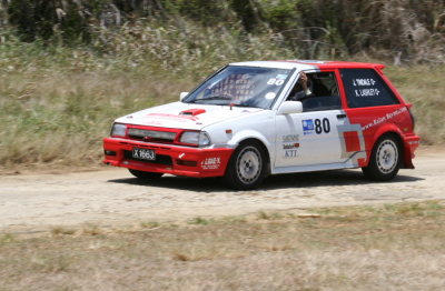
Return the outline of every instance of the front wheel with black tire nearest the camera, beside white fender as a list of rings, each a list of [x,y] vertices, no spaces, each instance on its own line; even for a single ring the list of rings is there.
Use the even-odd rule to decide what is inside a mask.
[[[237,190],[255,189],[261,184],[267,165],[265,149],[259,142],[243,142],[230,158],[225,180]]]

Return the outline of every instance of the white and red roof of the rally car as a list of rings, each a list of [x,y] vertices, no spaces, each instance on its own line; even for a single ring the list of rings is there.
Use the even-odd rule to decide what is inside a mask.
[[[234,62],[230,66],[323,70],[323,69],[384,69],[385,64],[370,62],[325,61],[325,60],[279,60],[279,61],[247,61]]]

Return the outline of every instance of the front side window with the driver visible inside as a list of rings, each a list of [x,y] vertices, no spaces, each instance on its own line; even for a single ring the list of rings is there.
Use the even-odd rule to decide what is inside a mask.
[[[306,73],[306,86],[301,82],[303,78],[300,77],[287,100],[301,101],[305,112],[342,108],[334,72]]]

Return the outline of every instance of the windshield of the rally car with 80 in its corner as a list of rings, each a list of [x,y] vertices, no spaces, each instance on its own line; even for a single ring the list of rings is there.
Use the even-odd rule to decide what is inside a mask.
[[[184,102],[270,108],[290,70],[229,66],[205,81]]]

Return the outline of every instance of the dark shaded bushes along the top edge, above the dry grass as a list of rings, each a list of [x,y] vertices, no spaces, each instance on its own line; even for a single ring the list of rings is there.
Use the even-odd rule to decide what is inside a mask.
[[[240,34],[273,33],[299,58],[365,51],[397,61],[444,61],[443,0],[2,0],[1,11],[1,22],[23,41],[105,51],[103,30],[137,38],[140,26],[172,26],[189,34],[191,21]]]

